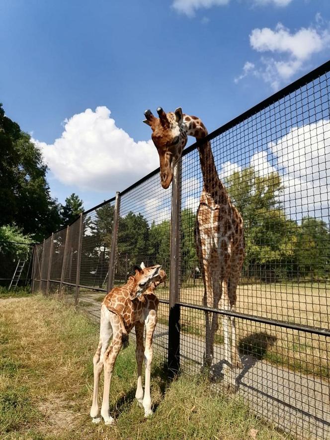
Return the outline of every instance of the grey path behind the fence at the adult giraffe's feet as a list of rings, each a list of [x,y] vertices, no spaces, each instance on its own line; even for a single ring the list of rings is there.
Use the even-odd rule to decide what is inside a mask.
[[[99,320],[99,302],[84,296],[82,305],[92,319]],[[154,337],[156,352],[166,353],[167,336],[167,326],[159,323]],[[200,371],[203,353],[202,338],[181,333],[181,366],[185,371]],[[216,345],[212,369],[219,378],[222,377],[223,358],[223,346]],[[297,439],[330,439],[329,380],[249,355],[244,355],[242,361],[243,370],[236,377],[238,394],[256,415]],[[221,380],[215,382],[215,387],[221,387]]]

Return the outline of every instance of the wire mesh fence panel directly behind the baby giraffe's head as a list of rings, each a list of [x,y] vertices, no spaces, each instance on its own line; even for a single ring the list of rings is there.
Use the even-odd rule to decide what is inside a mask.
[[[165,191],[159,175],[152,176],[125,192],[120,200],[120,218],[117,239],[115,284],[123,284],[135,264],[146,266],[162,264],[169,275],[170,191]],[[159,298],[168,300],[168,281],[155,291]],[[163,323],[168,319],[168,307],[160,305]],[[155,344],[164,355],[167,338],[166,325],[158,325]],[[163,336],[158,337],[158,335]]]

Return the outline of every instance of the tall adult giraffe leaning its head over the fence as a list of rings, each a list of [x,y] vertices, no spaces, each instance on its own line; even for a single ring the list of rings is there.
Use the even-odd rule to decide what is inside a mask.
[[[146,110],[144,122],[153,131],[152,140],[160,157],[161,184],[163,188],[168,188],[173,178],[174,165],[187,143],[187,136],[199,140],[208,133],[199,118],[182,114],[180,107],[169,113],[159,107],[157,113],[159,118]],[[218,176],[210,142],[201,144],[198,151],[204,184],[197,210],[195,236],[197,254],[203,268],[203,303],[207,307],[218,308],[220,305],[222,310],[235,311],[236,289],[245,255],[243,220]],[[242,367],[236,343],[235,318],[222,316],[227,361],[224,364],[224,375],[225,380],[233,384],[233,367]],[[212,318],[212,313],[205,312],[205,325],[204,364],[210,367],[218,314],[214,313]]]

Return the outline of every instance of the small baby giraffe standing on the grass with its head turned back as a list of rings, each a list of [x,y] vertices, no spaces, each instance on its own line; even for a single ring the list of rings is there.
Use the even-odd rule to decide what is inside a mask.
[[[127,283],[113,288],[104,298],[101,306],[100,340],[93,357],[94,389],[90,416],[93,423],[99,423],[103,417],[106,425],[114,423],[109,415],[109,391],[111,375],[117,355],[128,343],[128,334],[135,326],[136,362],[138,383],[135,397],[143,405],[145,417],[152,414],[150,398],[150,371],[153,358],[153,334],[157,323],[158,298],[155,288],[165,281],[166,274],[161,265],[145,267],[135,266],[135,275]],[[146,326],[146,347],[143,344],[144,326]],[[109,345],[110,339],[112,341]],[[145,393],[142,388],[142,362],[145,357],[146,377]],[[98,406],[98,383],[104,366],[104,387],[101,411]]]

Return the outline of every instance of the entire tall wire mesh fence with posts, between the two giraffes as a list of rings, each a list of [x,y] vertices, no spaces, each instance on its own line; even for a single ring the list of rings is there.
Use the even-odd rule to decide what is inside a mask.
[[[99,317],[103,294],[134,264],[163,264],[169,282],[157,289],[155,345],[170,372],[205,367],[213,320],[215,383],[226,379],[236,339],[243,365],[233,368],[235,385],[252,411],[298,439],[330,438],[329,83],[327,62],[185,149],[171,192],[155,170],[53,233],[35,247],[33,290],[58,292]],[[245,259],[237,286],[234,278],[227,285],[230,303],[219,285],[221,253],[210,303],[196,252],[206,142],[244,221]],[[212,258],[224,234],[219,217],[211,216],[218,230],[203,245]]]

